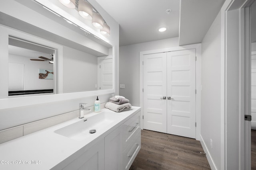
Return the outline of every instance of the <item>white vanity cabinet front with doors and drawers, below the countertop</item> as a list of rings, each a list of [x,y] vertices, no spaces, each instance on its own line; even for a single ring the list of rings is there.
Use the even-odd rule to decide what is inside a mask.
[[[84,146],[52,169],[128,170],[141,147],[140,113],[136,111],[132,117],[96,140],[96,144]]]

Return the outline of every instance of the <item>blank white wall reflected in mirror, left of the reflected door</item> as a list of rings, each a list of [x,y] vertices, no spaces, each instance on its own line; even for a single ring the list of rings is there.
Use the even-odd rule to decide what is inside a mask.
[[[94,55],[63,47],[63,92],[97,90],[98,59]]]

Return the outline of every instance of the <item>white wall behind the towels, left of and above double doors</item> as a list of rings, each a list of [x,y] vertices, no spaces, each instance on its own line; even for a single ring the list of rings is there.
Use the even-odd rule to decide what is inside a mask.
[[[178,47],[178,37],[138,43],[120,47],[119,94],[130,100],[132,106],[140,106],[140,51]]]

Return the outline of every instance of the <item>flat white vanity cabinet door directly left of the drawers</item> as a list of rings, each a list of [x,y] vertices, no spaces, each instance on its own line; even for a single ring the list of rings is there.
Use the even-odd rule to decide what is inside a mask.
[[[105,137],[105,170],[122,170],[122,128]]]

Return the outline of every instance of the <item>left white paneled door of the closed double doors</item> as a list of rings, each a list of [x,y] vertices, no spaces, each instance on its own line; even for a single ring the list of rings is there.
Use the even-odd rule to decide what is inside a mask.
[[[143,57],[144,129],[167,133],[166,129],[166,53]]]

